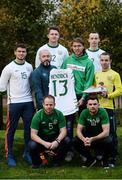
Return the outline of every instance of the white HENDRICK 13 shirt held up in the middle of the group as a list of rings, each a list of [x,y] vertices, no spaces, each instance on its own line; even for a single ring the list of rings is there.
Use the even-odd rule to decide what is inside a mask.
[[[56,109],[65,116],[78,111],[71,69],[52,69],[50,72],[49,94],[55,97]]]

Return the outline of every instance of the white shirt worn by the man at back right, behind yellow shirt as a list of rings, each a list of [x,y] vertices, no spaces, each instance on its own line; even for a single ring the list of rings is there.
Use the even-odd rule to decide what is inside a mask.
[[[95,72],[101,71],[102,67],[100,64],[100,55],[105,52],[102,49],[97,49],[95,51],[92,51],[90,49],[86,49],[86,53],[88,54],[88,57],[93,61]]]

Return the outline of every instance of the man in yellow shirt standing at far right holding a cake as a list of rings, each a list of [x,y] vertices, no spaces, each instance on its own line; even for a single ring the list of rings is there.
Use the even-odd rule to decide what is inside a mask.
[[[116,133],[116,118],[115,118],[115,107],[114,98],[122,95],[122,82],[120,75],[112,70],[111,67],[111,55],[104,52],[100,55],[100,63],[102,71],[95,74],[96,85],[104,86],[107,91],[102,92],[99,96],[100,107],[105,108],[109,115],[110,120],[110,135],[113,140],[113,155],[110,161],[112,167],[115,166],[116,155],[117,155],[117,133]]]

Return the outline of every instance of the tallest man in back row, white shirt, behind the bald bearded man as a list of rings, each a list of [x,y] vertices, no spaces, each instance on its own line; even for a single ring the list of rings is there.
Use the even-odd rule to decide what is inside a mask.
[[[35,59],[35,67],[37,68],[40,65],[40,60],[39,60],[40,50],[47,49],[52,56],[51,65],[54,65],[59,69],[62,63],[64,62],[65,58],[69,56],[67,49],[58,43],[60,38],[59,28],[54,26],[49,27],[47,37],[49,39],[48,43],[41,46],[37,51],[36,59]]]

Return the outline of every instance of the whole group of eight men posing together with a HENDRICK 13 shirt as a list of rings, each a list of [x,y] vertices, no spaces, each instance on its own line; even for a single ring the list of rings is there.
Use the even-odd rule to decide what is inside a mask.
[[[100,39],[96,32],[89,34],[87,50],[81,38],[73,39],[70,56],[58,43],[57,27],[49,28],[48,38],[49,42],[37,51],[34,71],[25,61],[25,45],[17,44],[15,60],[5,66],[0,77],[0,91],[7,90],[8,95],[7,164],[16,166],[13,141],[21,117],[23,159],[33,168],[47,164],[45,156],[50,157],[53,166],[64,159],[71,161],[75,151],[80,153],[85,167],[99,160],[106,168],[114,167],[118,142],[113,99],[122,95],[122,84],[120,75],[111,69],[111,55],[98,48]],[[93,85],[105,87],[106,91],[98,97],[84,93]],[[74,137],[76,112],[78,124]]]

